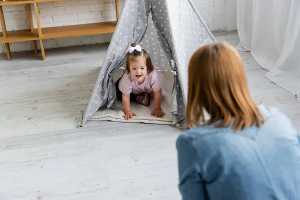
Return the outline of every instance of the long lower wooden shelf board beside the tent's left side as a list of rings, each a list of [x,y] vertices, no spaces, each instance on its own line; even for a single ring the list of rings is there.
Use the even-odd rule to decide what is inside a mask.
[[[116,26],[116,21],[85,23],[78,25],[66,25],[56,27],[41,28],[42,39],[81,36],[91,34],[102,34],[113,32]]]

